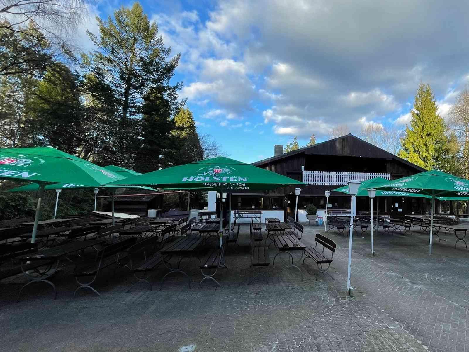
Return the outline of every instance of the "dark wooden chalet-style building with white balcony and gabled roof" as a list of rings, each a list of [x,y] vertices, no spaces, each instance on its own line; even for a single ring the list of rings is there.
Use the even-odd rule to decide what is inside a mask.
[[[315,145],[283,153],[283,146],[275,146],[275,155],[253,165],[303,181],[298,201],[298,218],[305,221],[305,207],[313,203],[319,216],[325,211],[324,191],[331,191],[347,184],[350,179],[364,181],[374,177],[389,180],[413,175],[421,168],[398,156],[372,145],[352,134],[334,138]],[[381,197],[379,211],[400,214],[427,212],[430,201],[418,198]],[[369,210],[369,198],[357,198],[357,211]],[[439,207],[442,205],[439,204]],[[375,203],[376,207],[376,203]],[[233,209],[283,211],[284,216],[293,216],[295,211],[295,187],[284,187],[264,193],[234,193]],[[333,192],[329,198],[329,210],[350,208],[350,197]],[[442,209],[441,211],[445,211]],[[449,209],[448,209],[449,211]]]

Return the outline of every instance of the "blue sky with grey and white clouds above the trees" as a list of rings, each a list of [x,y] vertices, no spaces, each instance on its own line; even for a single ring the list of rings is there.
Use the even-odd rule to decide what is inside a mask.
[[[405,126],[420,82],[445,116],[469,82],[469,3],[440,0],[141,2],[173,53],[199,133],[253,162],[347,124]],[[107,16],[128,2],[99,2]],[[83,27],[96,32],[92,17]],[[85,36],[84,48],[90,46]]]

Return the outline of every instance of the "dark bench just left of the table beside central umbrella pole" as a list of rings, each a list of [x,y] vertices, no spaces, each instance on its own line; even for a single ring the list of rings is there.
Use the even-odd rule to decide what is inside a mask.
[[[125,251],[129,260],[129,264],[125,264],[125,266],[132,270],[138,280],[129,287],[127,292],[138,283],[143,282],[148,283],[151,291],[151,283],[148,281],[151,272],[163,264],[163,255],[156,251],[156,247],[157,237],[149,237],[130,246]]]

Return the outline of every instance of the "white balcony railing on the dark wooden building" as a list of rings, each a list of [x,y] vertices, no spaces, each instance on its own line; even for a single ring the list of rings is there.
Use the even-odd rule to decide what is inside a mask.
[[[375,177],[391,179],[391,174],[373,172],[334,172],[334,171],[303,171],[303,183],[305,184],[330,184],[344,185],[350,180],[366,181]]]

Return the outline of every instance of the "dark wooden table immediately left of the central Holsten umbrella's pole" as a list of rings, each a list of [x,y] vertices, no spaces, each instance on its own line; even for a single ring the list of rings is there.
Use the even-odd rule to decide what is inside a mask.
[[[191,236],[185,236],[181,237],[180,239],[177,239],[176,241],[170,243],[169,245],[166,245],[160,253],[163,254],[163,264],[164,266],[169,270],[169,272],[163,276],[161,279],[160,287],[159,289],[161,290],[161,287],[163,285],[163,281],[165,280],[166,276],[173,274],[173,273],[181,273],[182,275],[186,275],[189,283],[189,288],[190,288],[190,277],[187,275],[182,269],[185,268],[180,268],[180,264],[183,260],[183,258],[189,257],[188,263],[186,264],[189,265],[192,255],[195,253],[197,246],[202,242],[202,237],[200,235],[191,235]],[[171,265],[168,265],[168,260],[171,260],[172,256],[178,256],[178,265],[177,267],[172,267]]]

